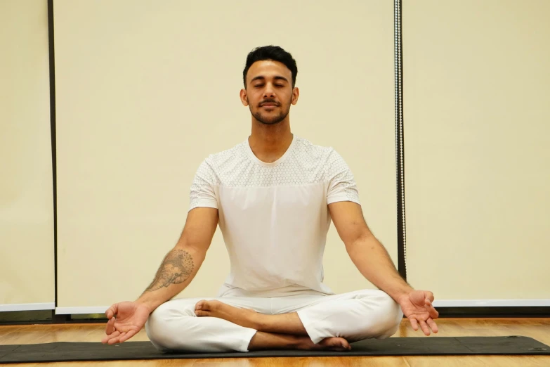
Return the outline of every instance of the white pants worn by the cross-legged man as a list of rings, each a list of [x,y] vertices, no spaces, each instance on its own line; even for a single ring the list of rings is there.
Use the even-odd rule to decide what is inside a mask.
[[[254,309],[261,314],[297,311],[314,343],[325,337],[348,342],[393,335],[403,317],[400,306],[381,290],[358,290],[341,295],[290,295],[286,297],[220,297],[171,300],[149,316],[145,330],[159,350],[188,352],[248,352],[256,330],[222,318],[198,317],[199,300],[219,300],[230,306]]]

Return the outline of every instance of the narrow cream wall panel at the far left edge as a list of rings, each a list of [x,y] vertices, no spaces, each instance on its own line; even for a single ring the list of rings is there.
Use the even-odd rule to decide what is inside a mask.
[[[53,308],[46,1],[0,1],[0,50],[0,310]]]

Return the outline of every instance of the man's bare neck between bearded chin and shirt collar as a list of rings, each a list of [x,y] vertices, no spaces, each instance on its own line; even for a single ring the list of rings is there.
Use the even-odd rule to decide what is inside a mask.
[[[248,141],[259,160],[275,162],[287,151],[292,139],[288,118],[275,125],[266,125],[252,117],[252,134]]]

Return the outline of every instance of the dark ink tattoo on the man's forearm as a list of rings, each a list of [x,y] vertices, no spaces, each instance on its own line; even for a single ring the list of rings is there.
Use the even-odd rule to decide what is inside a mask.
[[[163,287],[168,288],[171,284],[183,283],[189,278],[193,268],[193,258],[189,252],[181,249],[172,250],[164,257],[155,275],[155,280],[145,292],[152,292]]]

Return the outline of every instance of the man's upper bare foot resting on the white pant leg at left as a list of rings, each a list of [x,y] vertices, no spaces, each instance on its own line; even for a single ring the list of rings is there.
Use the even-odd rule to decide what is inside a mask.
[[[195,304],[195,315],[223,318],[245,328],[258,330],[260,316],[253,309],[238,309],[217,300],[199,301]]]

